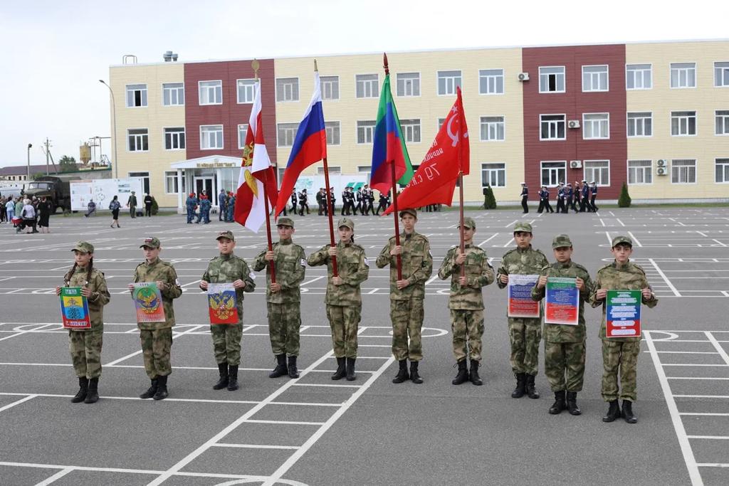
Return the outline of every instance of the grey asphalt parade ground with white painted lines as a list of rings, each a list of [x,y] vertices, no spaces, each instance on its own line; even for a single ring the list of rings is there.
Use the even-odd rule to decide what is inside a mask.
[[[532,209],[532,211],[534,211]],[[534,227],[533,246],[554,260],[551,240],[567,233],[573,259],[596,274],[612,261],[615,235],[634,240],[660,302],[644,308],[636,425],[603,423],[600,310],[588,308],[582,415],[548,415],[543,375],[538,400],[512,399],[506,291],[484,289],[484,385],[454,386],[447,281],[437,278],[458,240],[458,213],[421,213],[431,242],[426,283],[425,383],[394,385],[389,270],[374,259],[392,234],[391,217],[356,216],[356,243],[373,264],[362,284],[357,380],[334,382],[324,311],[326,270],[307,267],[302,285],[298,380],[268,378],[274,366],[265,311],[265,275],[246,294],[241,389],[217,380],[206,298],[198,289],[215,236],[232,229],[235,254],[251,262],[265,245],[238,224],[184,216],[91,219],[53,216],[50,234],[0,225],[1,485],[726,485],[729,484],[729,208],[603,209],[598,214],[467,211],[474,241],[494,268],[514,246],[512,227]],[[307,254],[328,241],[327,219],[295,216],[294,240]],[[133,303],[126,289],[139,245],[154,235],[184,293],[174,303],[170,396],[141,400],[144,373]],[[77,240],[95,245],[94,267],[112,293],[104,309],[98,403],[71,404],[78,385],[54,288],[71,267]]]

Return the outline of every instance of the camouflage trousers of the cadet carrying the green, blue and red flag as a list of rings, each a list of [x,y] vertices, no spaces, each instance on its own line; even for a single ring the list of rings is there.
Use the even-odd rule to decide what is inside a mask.
[[[391,300],[392,356],[397,361],[423,359],[421,330],[425,311],[422,299]],[[410,344],[408,345],[408,337]]]

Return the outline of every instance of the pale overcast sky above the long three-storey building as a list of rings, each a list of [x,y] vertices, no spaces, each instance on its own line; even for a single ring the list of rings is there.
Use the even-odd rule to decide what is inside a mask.
[[[713,4],[714,7],[709,7]],[[26,0],[0,6],[0,166],[109,136],[109,66],[347,52],[726,39],[722,1]],[[538,5],[538,7],[537,7]],[[526,17],[524,17],[526,15]],[[117,98],[122,93],[116,93]],[[104,152],[109,154],[109,142]]]

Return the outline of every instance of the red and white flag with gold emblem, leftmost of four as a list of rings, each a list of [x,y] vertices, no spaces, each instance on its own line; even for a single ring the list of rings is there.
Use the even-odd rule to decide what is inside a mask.
[[[265,191],[264,191],[265,187]],[[261,82],[254,87],[254,101],[249,119],[246,145],[243,146],[241,175],[235,194],[233,219],[252,232],[258,232],[268,217],[264,194],[268,195],[269,208],[276,204],[276,172],[266,152],[261,117]]]

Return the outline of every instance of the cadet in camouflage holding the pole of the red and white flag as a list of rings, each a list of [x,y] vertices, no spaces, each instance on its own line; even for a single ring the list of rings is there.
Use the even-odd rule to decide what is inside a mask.
[[[268,307],[268,334],[271,349],[276,355],[276,368],[270,378],[289,375],[298,378],[296,358],[299,356],[299,328],[301,327],[301,291],[304,280],[306,255],[304,248],[295,244],[294,221],[278,218],[278,243],[273,251],[261,251],[254,259],[253,270],[266,269],[266,305]],[[276,269],[276,283],[270,281],[270,265]],[[286,356],[289,363],[286,365]]]

